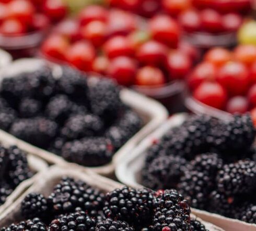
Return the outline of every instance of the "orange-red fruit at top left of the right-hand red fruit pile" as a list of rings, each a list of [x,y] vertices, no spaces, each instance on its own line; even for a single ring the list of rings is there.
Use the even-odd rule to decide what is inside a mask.
[[[208,52],[204,56],[204,60],[212,62],[215,66],[223,66],[226,62],[230,61],[232,58],[231,52],[225,48],[216,47]]]

